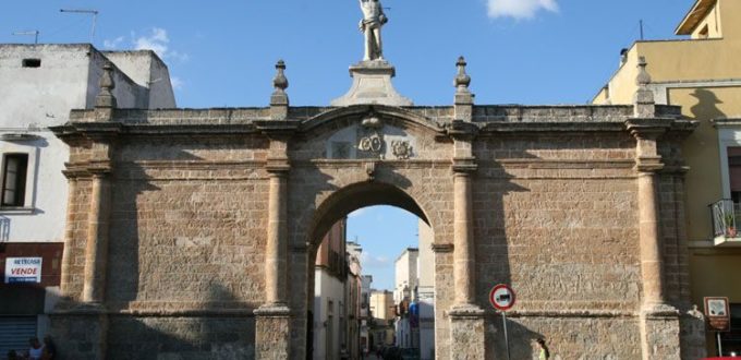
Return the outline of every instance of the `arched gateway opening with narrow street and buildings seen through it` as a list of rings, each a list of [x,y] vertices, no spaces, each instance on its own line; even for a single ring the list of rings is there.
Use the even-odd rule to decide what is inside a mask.
[[[361,253],[365,251],[360,242],[348,239],[349,242],[344,243],[348,224],[352,226],[357,217],[364,215],[356,215],[350,221],[347,216],[375,205],[394,206],[420,220],[418,228],[414,220],[418,238],[414,247],[390,243],[390,239],[368,239],[377,242],[376,249],[380,243],[386,248],[382,254],[388,262],[382,266],[388,268],[381,273],[366,266],[372,262],[366,264],[365,260],[372,257],[362,256],[363,261],[360,261]],[[375,209],[377,214],[385,212],[403,216],[400,214],[402,211],[394,212],[390,207]],[[370,223],[378,227],[392,226],[379,218]],[[396,231],[401,229],[385,232]],[[384,352],[387,356],[404,353],[433,359],[434,233],[420,205],[403,190],[388,183],[364,181],[351,184],[332,193],[318,207],[314,230],[309,235],[307,359],[360,359],[367,353]],[[402,240],[410,235],[399,233],[394,238]],[[342,259],[336,259],[340,256]],[[390,283],[388,273],[393,275],[393,283]],[[382,278],[378,274],[384,274]]]

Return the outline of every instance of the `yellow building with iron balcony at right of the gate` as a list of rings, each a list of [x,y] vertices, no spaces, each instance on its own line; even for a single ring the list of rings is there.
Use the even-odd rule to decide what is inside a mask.
[[[741,353],[741,1],[696,0],[676,29],[689,36],[636,41],[594,104],[631,104],[641,57],[648,63],[657,104],[679,105],[699,128],[683,145],[691,301],[728,297],[733,332],[721,335],[724,353]],[[715,333],[707,334],[716,353]]]

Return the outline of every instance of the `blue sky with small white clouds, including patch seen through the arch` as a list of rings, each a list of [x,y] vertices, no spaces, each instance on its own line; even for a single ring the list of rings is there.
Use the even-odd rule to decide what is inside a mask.
[[[646,39],[675,38],[694,0],[381,3],[384,53],[396,67],[394,86],[415,105],[452,105],[459,56],[476,104],[558,105],[597,93],[620,49],[639,39],[641,20]],[[98,11],[95,34],[92,15],[60,9]],[[39,31],[39,43],[153,49],[186,108],[267,106],[283,59],[291,105],[323,106],[349,89],[348,68],[362,59],[360,17],[356,0],[0,0],[0,43],[33,43],[12,34]],[[348,238],[355,236],[367,269],[390,269],[404,248],[416,247],[416,217],[369,208],[350,217]],[[392,287],[392,271],[374,277],[375,287]]]

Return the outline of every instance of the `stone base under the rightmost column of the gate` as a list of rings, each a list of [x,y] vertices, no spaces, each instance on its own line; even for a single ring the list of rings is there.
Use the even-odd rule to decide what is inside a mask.
[[[656,305],[641,311],[641,343],[644,360],[679,360],[679,312]]]

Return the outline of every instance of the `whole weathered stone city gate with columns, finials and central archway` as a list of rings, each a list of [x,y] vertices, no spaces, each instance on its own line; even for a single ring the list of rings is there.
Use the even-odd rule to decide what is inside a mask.
[[[116,108],[109,70],[53,129],[71,147],[60,353],[304,359],[317,240],[389,204],[435,232],[439,359],[503,357],[499,283],[519,295],[512,358],[546,337],[562,358],[679,359],[697,339],[694,123],[647,84],[634,106],[474,105],[458,67],[451,106],[411,105],[374,60],[331,107],[289,106],[279,63],[269,107],[169,110]]]

